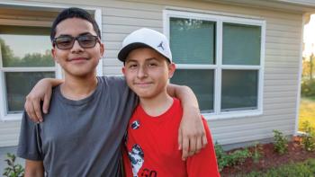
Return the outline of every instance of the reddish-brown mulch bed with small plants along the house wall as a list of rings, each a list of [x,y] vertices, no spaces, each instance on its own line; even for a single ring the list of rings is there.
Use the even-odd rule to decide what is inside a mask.
[[[263,155],[259,162],[254,163],[252,158],[247,158],[243,164],[224,168],[220,173],[221,176],[234,176],[238,173],[250,173],[252,171],[266,171],[269,168],[282,164],[303,162],[308,158],[315,158],[315,152],[308,152],[302,148],[301,138],[299,137],[293,137],[293,141],[288,144],[288,152],[284,155],[276,153],[274,144],[272,143],[261,146],[261,152]],[[235,150],[236,149],[232,151]],[[254,148],[249,147],[249,151],[253,152]]]

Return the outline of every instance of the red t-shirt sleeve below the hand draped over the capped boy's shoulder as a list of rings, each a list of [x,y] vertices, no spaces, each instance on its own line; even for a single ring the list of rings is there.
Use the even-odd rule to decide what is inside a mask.
[[[187,159],[187,174],[189,177],[220,177],[217,158],[211,138],[211,131],[208,127],[207,121],[205,119],[202,119],[202,121],[206,131],[208,144],[200,151],[200,153],[193,155]]]

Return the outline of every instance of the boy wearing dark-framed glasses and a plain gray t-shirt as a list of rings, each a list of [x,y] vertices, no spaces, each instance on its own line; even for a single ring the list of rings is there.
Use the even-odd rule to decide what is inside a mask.
[[[23,113],[17,154],[26,159],[26,177],[45,173],[121,176],[121,139],[138,99],[122,77],[96,77],[95,67],[104,52],[100,37],[93,17],[82,9],[66,9],[53,22],[51,53],[63,68],[65,81],[57,82],[61,84],[52,90],[45,121],[33,123]],[[50,83],[40,84],[33,92],[37,89],[49,90]],[[169,89],[170,93],[187,93],[175,86]],[[191,102],[193,98],[190,94],[182,102]],[[38,109],[36,103],[25,106],[25,110]],[[197,103],[193,102],[194,105]],[[183,119],[189,123],[199,120]],[[191,144],[193,141],[190,139]]]

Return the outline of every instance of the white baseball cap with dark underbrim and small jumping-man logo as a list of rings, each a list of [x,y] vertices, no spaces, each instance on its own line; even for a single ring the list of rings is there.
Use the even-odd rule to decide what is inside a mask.
[[[172,53],[166,36],[161,32],[148,28],[133,31],[122,41],[122,48],[118,53],[118,59],[124,62],[131,50],[143,47],[156,50],[172,62]]]

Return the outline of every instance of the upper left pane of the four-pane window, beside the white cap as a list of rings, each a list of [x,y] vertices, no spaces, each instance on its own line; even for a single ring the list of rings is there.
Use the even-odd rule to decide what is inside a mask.
[[[214,64],[215,22],[171,17],[170,47],[177,64]]]

